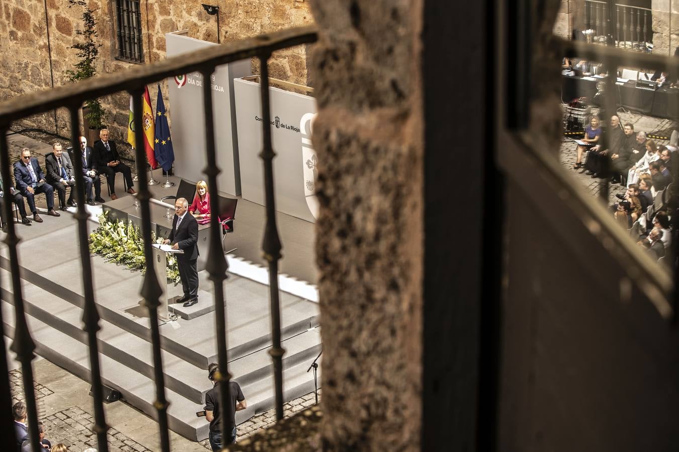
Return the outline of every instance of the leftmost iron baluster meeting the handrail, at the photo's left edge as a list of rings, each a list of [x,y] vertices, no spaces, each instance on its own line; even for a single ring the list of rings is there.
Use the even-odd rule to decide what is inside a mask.
[[[7,147],[7,125],[0,125],[0,166],[2,171],[3,191],[10,192],[10,149]],[[12,202],[9,198],[5,201],[5,218],[11,220],[12,216]],[[7,237],[5,243],[10,251],[10,273],[12,274],[12,290],[14,291],[14,340],[10,350],[16,353],[17,360],[21,363],[22,381],[24,384],[24,403],[26,404],[26,412],[28,414],[28,428],[29,436],[31,438],[31,451],[41,452],[42,447],[38,441],[38,414],[35,405],[35,386],[33,386],[33,366],[31,361],[35,358],[35,343],[29,331],[29,325],[26,324],[26,314],[24,314],[24,298],[21,288],[21,276],[19,266],[19,255],[16,245],[19,243],[19,238],[14,230],[14,221],[7,221]],[[16,445],[15,445],[16,449]],[[11,450],[11,449],[10,449]]]

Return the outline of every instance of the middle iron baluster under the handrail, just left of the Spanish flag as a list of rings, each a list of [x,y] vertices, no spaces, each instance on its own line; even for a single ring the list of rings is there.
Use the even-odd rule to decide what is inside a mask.
[[[168,433],[168,406],[170,403],[165,398],[165,375],[163,373],[163,361],[160,351],[160,329],[158,328],[158,306],[160,306],[160,295],[162,289],[158,283],[158,276],[155,275],[153,262],[153,249],[151,248],[151,192],[149,191],[148,176],[145,165],[144,134],[141,133],[144,127],[142,124],[141,97],[144,88],[136,88],[129,91],[132,96],[134,106],[134,130],[136,148],[135,160],[138,163],[137,177],[139,178],[139,191],[136,198],[139,200],[141,209],[141,232],[144,239],[144,258],[146,261],[146,273],[141,287],[141,296],[144,304],[149,310],[149,323],[151,324],[151,347],[153,348],[153,373],[155,376],[155,401],[153,406],[158,411],[158,428],[160,429],[160,448],[163,452],[170,451],[170,436]],[[141,168],[140,168],[141,167]]]

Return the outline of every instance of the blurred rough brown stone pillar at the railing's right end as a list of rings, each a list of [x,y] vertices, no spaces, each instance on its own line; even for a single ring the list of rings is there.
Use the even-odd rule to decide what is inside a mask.
[[[419,449],[420,1],[311,4],[323,447]]]

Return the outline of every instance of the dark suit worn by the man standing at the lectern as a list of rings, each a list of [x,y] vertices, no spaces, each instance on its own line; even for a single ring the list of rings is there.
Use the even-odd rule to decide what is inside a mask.
[[[170,243],[177,243],[183,254],[177,254],[177,266],[179,267],[179,278],[181,288],[187,300],[198,297],[198,222],[194,215],[189,211],[184,214],[183,220],[177,228],[179,217],[175,214],[172,219],[172,232],[170,232]]]

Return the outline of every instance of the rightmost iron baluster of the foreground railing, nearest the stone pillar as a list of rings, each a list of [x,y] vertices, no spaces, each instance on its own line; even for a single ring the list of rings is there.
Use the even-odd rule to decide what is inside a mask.
[[[266,199],[266,226],[262,250],[264,259],[269,262],[269,293],[271,297],[271,350],[269,354],[274,362],[274,385],[276,390],[276,419],[283,418],[283,372],[282,358],[285,350],[280,346],[280,302],[278,300],[278,260],[281,245],[276,228],[276,201],[274,199],[274,167],[276,152],[271,144],[271,112],[269,105],[269,68],[270,54],[259,57],[261,90],[261,121],[263,148],[259,157],[264,165],[264,188]]]

